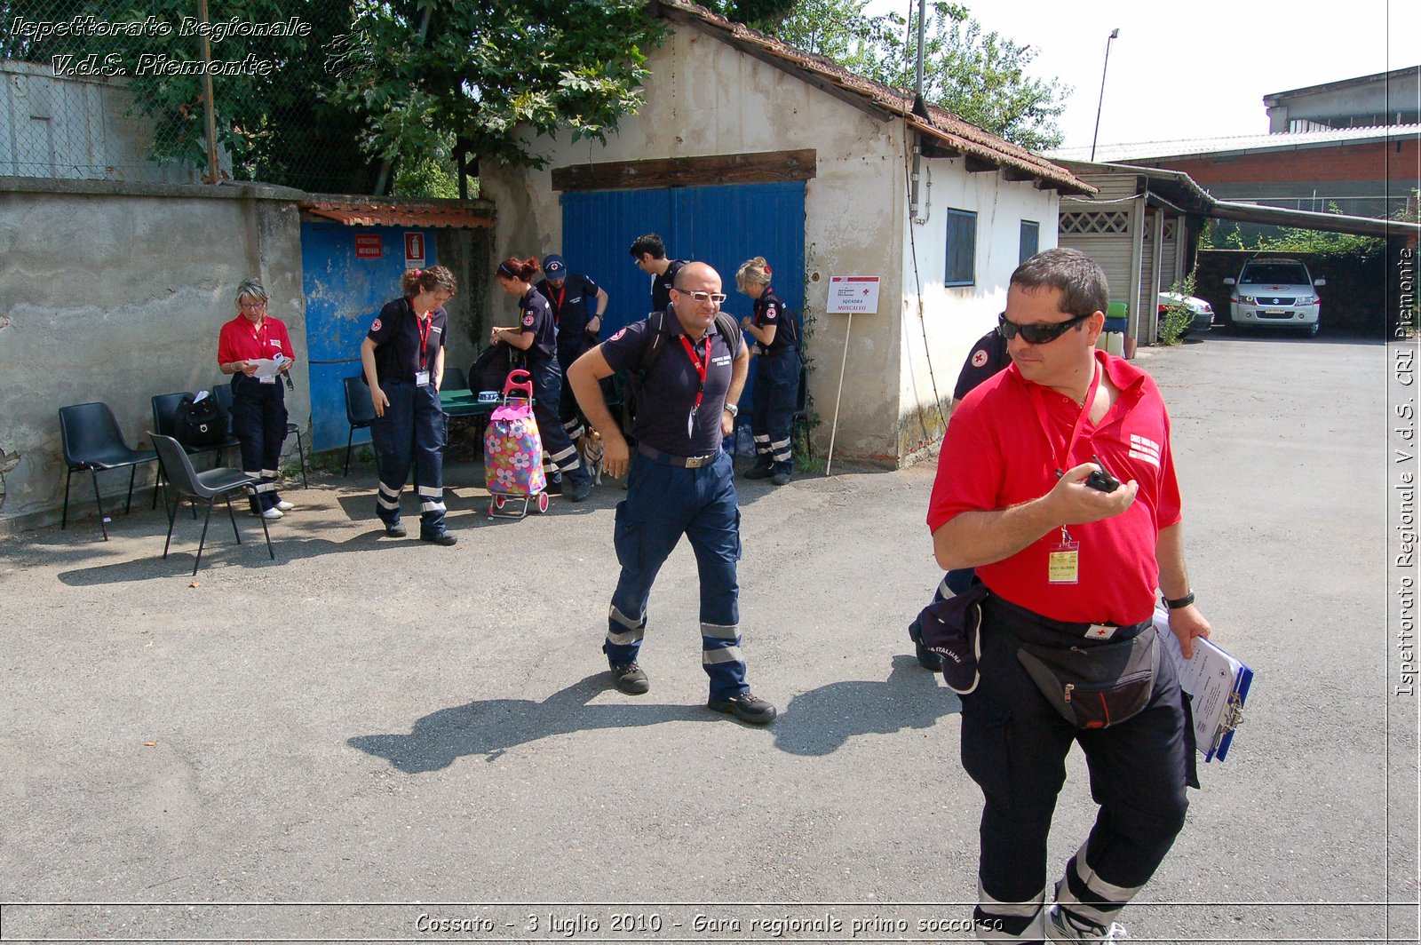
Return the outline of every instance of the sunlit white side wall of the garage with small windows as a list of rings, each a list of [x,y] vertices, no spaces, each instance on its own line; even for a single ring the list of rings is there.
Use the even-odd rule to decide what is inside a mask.
[[[1052,249],[1059,207],[1054,190],[1000,173],[968,173],[961,158],[922,163],[917,215],[922,222],[909,222],[911,232],[905,226],[902,254],[899,449],[905,453],[942,435],[942,414],[969,347],[1006,308],[1006,286],[1020,263],[1022,222],[1037,225],[1037,252]],[[949,209],[978,215],[972,286],[944,284]]]

